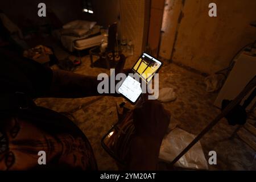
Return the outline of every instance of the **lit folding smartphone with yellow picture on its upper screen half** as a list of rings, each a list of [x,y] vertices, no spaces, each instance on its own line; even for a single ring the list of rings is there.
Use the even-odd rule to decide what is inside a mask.
[[[142,53],[131,70],[131,73],[137,78],[139,77],[139,80],[127,76],[119,87],[118,92],[131,104],[136,104],[142,94],[142,81],[149,84],[162,65],[163,63],[160,60],[147,53]]]

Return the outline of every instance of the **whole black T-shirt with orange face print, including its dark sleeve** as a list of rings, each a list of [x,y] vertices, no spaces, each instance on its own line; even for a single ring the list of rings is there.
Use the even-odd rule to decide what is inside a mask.
[[[1,101],[15,92],[30,98],[48,92],[51,69],[4,50],[0,56]],[[34,105],[5,110],[9,102],[0,102],[0,170],[97,169],[88,139],[70,119]],[[40,151],[45,152],[45,165],[39,164]]]

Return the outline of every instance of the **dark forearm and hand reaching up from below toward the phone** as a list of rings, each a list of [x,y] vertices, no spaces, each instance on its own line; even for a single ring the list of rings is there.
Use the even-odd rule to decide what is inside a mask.
[[[168,124],[170,113],[156,100],[148,100],[134,110],[135,135],[130,147],[131,170],[155,170],[160,145]]]

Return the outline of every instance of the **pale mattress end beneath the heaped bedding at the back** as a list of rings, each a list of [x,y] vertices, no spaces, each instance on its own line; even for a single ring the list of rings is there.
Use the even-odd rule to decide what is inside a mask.
[[[104,39],[104,35],[97,35],[86,39],[76,40],[74,43],[74,47],[76,49],[85,49],[93,46],[98,46],[101,44]]]

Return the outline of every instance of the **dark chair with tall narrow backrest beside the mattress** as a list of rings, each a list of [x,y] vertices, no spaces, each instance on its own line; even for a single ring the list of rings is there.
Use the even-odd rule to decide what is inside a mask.
[[[117,23],[109,26],[108,30],[108,46],[102,52],[101,47],[97,46],[90,49],[90,66],[93,67],[93,56],[98,56],[100,59],[105,60],[106,67],[110,69],[110,60],[114,61],[119,57],[120,53],[117,49]]]

